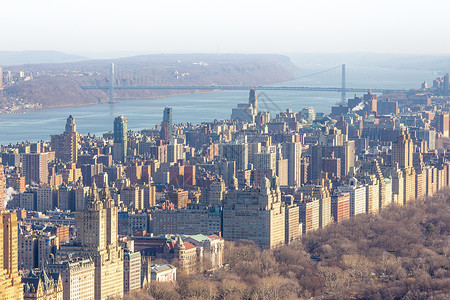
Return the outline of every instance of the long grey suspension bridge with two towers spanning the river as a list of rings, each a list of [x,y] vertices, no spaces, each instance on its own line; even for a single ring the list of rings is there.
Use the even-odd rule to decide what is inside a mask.
[[[114,63],[111,64],[109,74],[109,85],[104,86],[81,86],[85,90],[106,90],[109,92],[109,103],[114,103],[114,90],[197,90],[197,91],[215,91],[215,90],[250,90],[257,89],[261,91],[309,91],[309,92],[339,92],[341,93],[341,101],[346,101],[346,93],[366,93],[372,91],[374,93],[386,92],[406,92],[405,89],[371,89],[371,88],[351,88],[346,86],[345,64],[336,66],[317,73],[309,74],[301,78],[311,77],[317,74],[325,73],[337,68],[341,68],[341,86],[340,87],[314,87],[314,86],[262,86],[262,85],[135,85],[122,86],[115,85]]]

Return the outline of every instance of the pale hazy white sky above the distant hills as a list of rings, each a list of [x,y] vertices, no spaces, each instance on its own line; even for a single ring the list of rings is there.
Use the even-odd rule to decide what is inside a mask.
[[[450,54],[449,0],[8,0],[0,50]]]

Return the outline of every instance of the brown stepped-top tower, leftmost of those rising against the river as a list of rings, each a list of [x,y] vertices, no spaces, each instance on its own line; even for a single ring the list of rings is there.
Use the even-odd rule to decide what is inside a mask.
[[[67,118],[66,129],[63,134],[51,136],[52,149],[56,159],[63,163],[76,163],[78,158],[78,133],[75,120],[70,115]]]

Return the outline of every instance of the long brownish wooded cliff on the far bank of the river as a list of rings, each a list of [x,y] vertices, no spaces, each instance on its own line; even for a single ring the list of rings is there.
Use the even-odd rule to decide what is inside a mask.
[[[83,85],[108,85],[115,64],[115,85],[265,85],[294,79],[296,70],[281,55],[191,54],[149,55],[76,63],[4,67],[12,73],[32,72],[33,79],[6,86],[6,96],[44,107],[108,101],[107,91],[83,90]],[[116,90],[117,98],[153,98],[188,91]],[[192,91],[191,91],[192,92]]]

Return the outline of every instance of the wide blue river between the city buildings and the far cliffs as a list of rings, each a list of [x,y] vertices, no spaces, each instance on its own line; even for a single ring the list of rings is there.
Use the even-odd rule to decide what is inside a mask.
[[[352,67],[347,65],[347,87],[355,88],[419,88],[423,81],[430,84],[436,74],[431,71],[393,70],[386,68]],[[304,77],[324,67],[302,68],[296,79],[280,83],[282,86],[340,86],[340,69],[312,77]],[[353,95],[347,94],[347,98]],[[340,100],[336,92],[260,91],[260,110],[274,115],[292,108],[299,111],[312,106],[316,112],[330,113],[331,106]],[[165,106],[173,108],[174,123],[201,123],[214,119],[229,119],[231,109],[248,101],[248,91],[221,91],[181,95],[161,99],[122,100],[115,104],[49,108],[18,114],[0,114],[0,144],[21,141],[49,140],[51,134],[64,131],[66,118],[73,115],[77,130],[83,135],[102,134],[113,129],[119,115],[128,119],[128,129],[152,128],[162,120]]]

